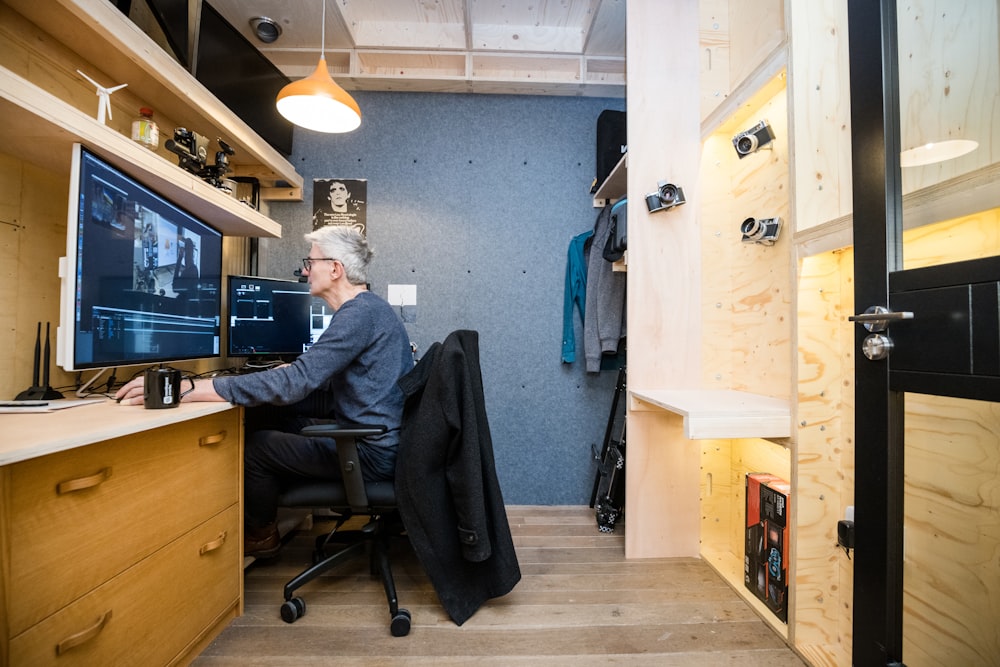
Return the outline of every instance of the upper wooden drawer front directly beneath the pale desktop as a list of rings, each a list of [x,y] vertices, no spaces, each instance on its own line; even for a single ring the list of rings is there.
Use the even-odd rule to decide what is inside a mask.
[[[228,410],[7,466],[10,636],[237,506],[240,429],[239,411]],[[239,523],[225,530],[235,544]],[[163,592],[190,590],[181,572],[154,579]],[[192,613],[199,595],[186,601]],[[148,628],[165,618],[150,616]]]

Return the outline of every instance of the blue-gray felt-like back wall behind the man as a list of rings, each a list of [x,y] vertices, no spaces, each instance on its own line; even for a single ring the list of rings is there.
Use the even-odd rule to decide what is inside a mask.
[[[261,275],[291,277],[308,247],[314,178],[367,179],[372,290],[416,285],[419,350],[454,329],[480,335],[497,471],[509,504],[590,500],[592,445],[608,421],[615,371],[563,364],[570,238],[590,229],[595,125],[622,99],[357,92],[345,135],[296,129],[303,202],[273,202],[280,240],[262,240]],[[419,353],[419,351],[418,351]]]

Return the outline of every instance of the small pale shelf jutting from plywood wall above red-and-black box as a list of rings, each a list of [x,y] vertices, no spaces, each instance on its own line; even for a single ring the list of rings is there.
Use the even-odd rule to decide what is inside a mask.
[[[684,418],[691,440],[713,438],[788,438],[788,401],[742,391],[716,389],[633,389],[632,410],[666,410]]]

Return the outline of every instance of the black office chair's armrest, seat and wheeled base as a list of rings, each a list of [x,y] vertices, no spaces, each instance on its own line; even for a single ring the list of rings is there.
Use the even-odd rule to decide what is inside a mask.
[[[303,435],[333,438],[337,441],[337,454],[343,482],[316,480],[287,489],[279,499],[281,507],[329,508],[337,513],[333,530],[316,539],[313,565],[285,584],[285,602],[281,605],[281,618],[293,623],[306,613],[306,603],[295,591],[336,567],[369,545],[370,566],[373,575],[380,575],[389,602],[389,630],[394,637],[410,632],[410,612],[400,609],[396,599],[396,585],[389,566],[389,540],[403,532],[402,521],[396,509],[396,492],[392,480],[365,482],[358,459],[357,438],[385,432],[384,426],[317,424],[302,429]],[[371,518],[360,530],[339,531],[353,516]],[[331,545],[345,545],[327,555]]]

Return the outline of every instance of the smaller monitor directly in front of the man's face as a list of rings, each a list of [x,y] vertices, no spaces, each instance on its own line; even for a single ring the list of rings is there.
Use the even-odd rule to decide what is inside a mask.
[[[313,309],[308,283],[229,276],[229,356],[302,354],[318,335]]]

